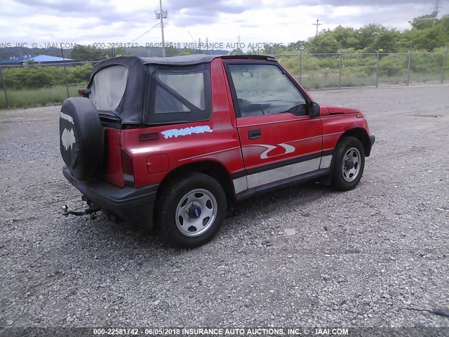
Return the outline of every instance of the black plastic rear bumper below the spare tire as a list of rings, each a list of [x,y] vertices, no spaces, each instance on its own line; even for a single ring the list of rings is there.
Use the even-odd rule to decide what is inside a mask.
[[[100,209],[113,213],[123,220],[152,227],[154,202],[159,185],[121,188],[97,178],[77,180],[67,166],[64,166],[62,173],[69,183]]]

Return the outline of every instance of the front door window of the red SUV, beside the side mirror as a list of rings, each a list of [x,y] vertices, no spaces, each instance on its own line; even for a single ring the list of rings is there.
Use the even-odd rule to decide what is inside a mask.
[[[229,64],[240,117],[305,114],[302,93],[276,65]]]

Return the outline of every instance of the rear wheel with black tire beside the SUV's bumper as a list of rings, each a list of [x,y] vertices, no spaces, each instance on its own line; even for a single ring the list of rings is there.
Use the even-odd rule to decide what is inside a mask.
[[[187,197],[190,194],[193,199]],[[215,216],[210,206],[213,210],[216,208]],[[191,249],[215,237],[225,219],[226,206],[225,191],[217,180],[203,173],[188,173],[163,187],[156,201],[155,221],[168,244]],[[178,216],[178,212],[183,216]],[[209,220],[208,212],[212,212]],[[192,218],[189,219],[190,215]]]

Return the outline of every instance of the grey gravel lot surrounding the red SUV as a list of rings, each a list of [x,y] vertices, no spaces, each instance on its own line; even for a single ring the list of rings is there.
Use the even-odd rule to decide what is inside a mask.
[[[0,112],[0,329],[449,326],[403,309],[449,305],[448,93],[313,92],[361,108],[377,137],[358,187],[250,199],[192,251],[104,218],[60,216],[82,203],[61,173],[59,107]]]

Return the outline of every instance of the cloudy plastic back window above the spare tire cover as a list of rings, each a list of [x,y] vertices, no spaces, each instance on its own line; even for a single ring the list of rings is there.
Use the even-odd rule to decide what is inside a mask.
[[[114,111],[119,106],[128,81],[128,68],[113,65],[98,71],[92,80],[89,99],[98,111]]]

